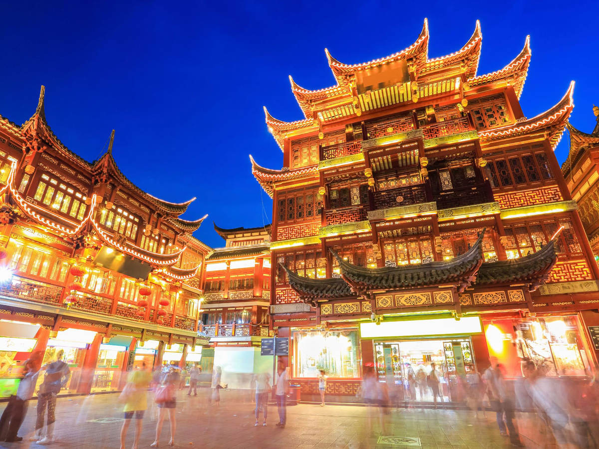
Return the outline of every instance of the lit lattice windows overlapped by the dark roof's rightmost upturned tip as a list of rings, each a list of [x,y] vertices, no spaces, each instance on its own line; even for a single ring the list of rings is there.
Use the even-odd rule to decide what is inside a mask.
[[[508,259],[518,259],[539,251],[564,226],[558,237],[556,251],[560,256],[582,256],[582,247],[570,219],[534,220],[504,226]]]

